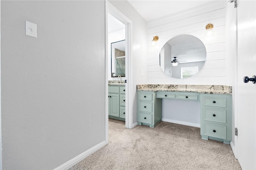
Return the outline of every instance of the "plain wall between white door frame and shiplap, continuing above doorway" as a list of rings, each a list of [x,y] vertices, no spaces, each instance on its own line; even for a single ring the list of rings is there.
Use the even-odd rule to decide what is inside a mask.
[[[128,81],[132,81],[132,123],[137,123],[137,96],[136,85],[146,84],[146,42],[147,42],[147,28],[146,21],[134,10],[134,8],[126,1],[109,1],[120,12],[132,21],[131,30],[131,59],[132,62],[132,76]],[[141,76],[141,71],[144,75]]]

